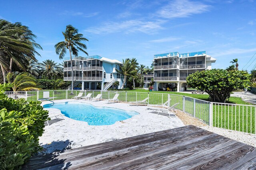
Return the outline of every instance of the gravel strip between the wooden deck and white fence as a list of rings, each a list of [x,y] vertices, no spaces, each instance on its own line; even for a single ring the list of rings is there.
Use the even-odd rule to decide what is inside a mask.
[[[205,129],[207,131],[217,133],[224,137],[228,137],[235,141],[242,142],[247,145],[256,147],[256,135],[252,135],[252,134],[248,134],[248,133],[244,133],[244,132],[233,131],[233,130],[229,130],[229,129],[222,129],[222,128],[218,128],[218,127],[210,127],[210,126],[198,121],[198,119],[191,117],[190,115],[188,115],[182,111],[178,111],[176,113],[176,115],[180,118],[180,120],[184,123],[184,125],[194,125],[194,126],[202,128],[202,129]]]

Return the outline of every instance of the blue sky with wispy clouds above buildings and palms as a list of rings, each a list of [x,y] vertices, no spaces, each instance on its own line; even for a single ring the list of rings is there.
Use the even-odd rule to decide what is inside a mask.
[[[0,0],[0,18],[30,27],[44,49],[39,61],[61,62],[54,45],[71,24],[89,39],[89,55],[150,66],[155,54],[206,51],[217,59],[212,68],[235,58],[239,69],[256,64],[256,56],[248,63],[256,53],[255,0]]]

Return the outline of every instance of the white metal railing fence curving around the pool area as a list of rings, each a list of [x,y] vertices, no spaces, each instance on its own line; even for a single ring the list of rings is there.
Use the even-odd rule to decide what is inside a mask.
[[[15,99],[25,98],[28,101],[36,101],[40,98],[63,100],[72,99],[81,90],[73,90],[73,94],[71,92],[72,90],[45,90],[6,92],[6,95]],[[120,102],[140,101],[149,97],[148,104],[164,104],[167,100],[171,99],[168,104],[169,106],[179,103],[176,109],[184,111],[202,123],[214,127],[256,134],[256,106],[254,105],[207,102],[187,96],[166,93],[84,90],[84,96],[88,93],[92,93],[92,97],[102,94],[102,99],[111,99],[118,93],[118,100]]]

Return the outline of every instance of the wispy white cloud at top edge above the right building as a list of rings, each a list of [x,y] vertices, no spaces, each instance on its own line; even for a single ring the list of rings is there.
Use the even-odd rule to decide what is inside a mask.
[[[210,5],[190,0],[175,0],[157,11],[162,18],[184,18],[208,11]]]

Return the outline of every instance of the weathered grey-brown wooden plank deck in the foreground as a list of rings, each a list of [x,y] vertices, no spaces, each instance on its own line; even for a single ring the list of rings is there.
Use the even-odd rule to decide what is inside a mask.
[[[256,169],[256,148],[189,125],[34,156],[23,169]]]

